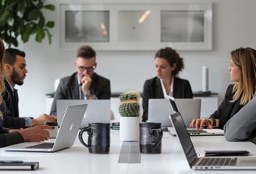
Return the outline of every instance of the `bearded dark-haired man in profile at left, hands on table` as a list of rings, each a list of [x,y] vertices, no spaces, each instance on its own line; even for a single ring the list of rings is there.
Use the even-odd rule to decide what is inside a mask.
[[[42,114],[40,117],[19,117],[19,98],[15,85],[23,85],[27,74],[25,52],[14,48],[5,50],[3,59],[5,69],[5,91],[2,92],[3,103],[0,110],[4,115],[3,127],[19,129],[44,124],[44,122],[55,122],[56,117]]]

